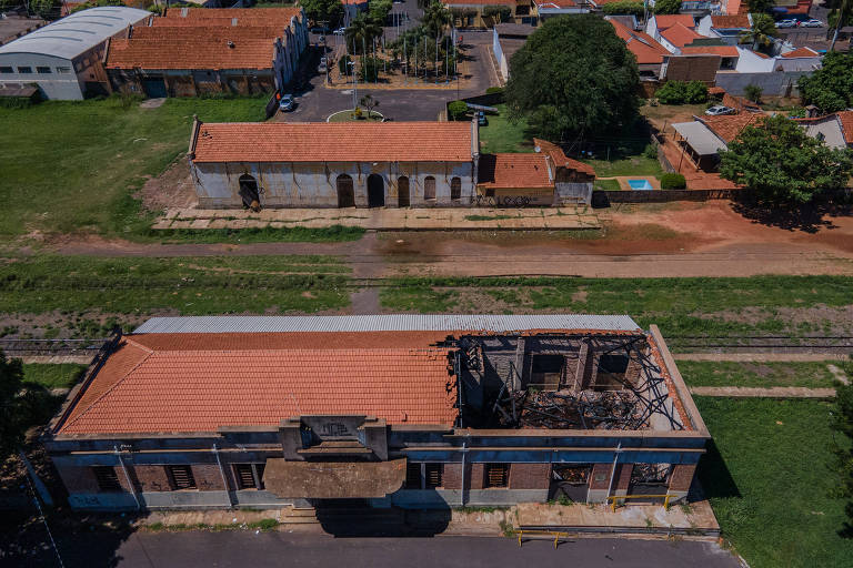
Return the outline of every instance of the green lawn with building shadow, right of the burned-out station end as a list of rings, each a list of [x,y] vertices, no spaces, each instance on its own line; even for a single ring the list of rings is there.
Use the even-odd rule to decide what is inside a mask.
[[[752,568],[846,568],[853,539],[829,497],[833,405],[696,397],[714,442],[699,477],[723,536]],[[839,438],[839,436],[836,436]]]

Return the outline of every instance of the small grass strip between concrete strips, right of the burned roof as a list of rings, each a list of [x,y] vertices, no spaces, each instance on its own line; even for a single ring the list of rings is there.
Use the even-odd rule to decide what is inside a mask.
[[[834,376],[826,362],[741,363],[731,361],[679,361],[679,371],[691,386],[805,386],[832,387]]]

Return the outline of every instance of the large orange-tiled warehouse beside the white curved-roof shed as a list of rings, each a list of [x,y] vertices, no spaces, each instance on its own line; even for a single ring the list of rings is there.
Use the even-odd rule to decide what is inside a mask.
[[[281,91],[308,45],[298,8],[171,8],[112,40],[113,90],[148,97]]]

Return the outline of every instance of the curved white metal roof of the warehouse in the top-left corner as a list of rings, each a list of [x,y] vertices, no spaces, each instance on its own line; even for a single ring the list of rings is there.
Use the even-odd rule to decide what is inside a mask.
[[[0,54],[40,53],[72,59],[150,16],[147,10],[121,6],[80,10],[0,47]]]

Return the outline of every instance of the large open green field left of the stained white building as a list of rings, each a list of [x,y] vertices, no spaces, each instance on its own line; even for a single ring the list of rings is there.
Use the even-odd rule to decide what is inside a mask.
[[[0,237],[92,231],[147,231],[131,195],[187,151],[192,115],[263,120],[265,99],[168,99],[123,109],[120,99],[49,101],[0,108]]]

